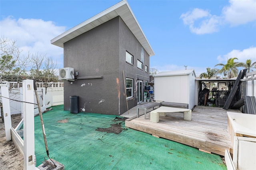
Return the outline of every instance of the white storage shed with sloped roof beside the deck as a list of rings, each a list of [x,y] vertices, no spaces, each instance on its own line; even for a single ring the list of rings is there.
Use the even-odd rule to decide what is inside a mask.
[[[164,71],[154,75],[154,99],[196,105],[196,74],[194,69]]]

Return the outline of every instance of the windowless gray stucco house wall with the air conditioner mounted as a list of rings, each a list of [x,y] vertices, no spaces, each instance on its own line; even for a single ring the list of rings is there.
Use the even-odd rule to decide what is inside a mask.
[[[74,67],[78,77],[103,76],[64,82],[64,110],[70,96],[79,97],[79,111],[118,115],[119,28],[114,18],[66,43],[64,67]]]

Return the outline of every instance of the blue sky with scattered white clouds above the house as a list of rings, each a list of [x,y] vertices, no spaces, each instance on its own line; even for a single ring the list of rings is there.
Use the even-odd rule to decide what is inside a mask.
[[[50,40],[120,1],[0,0],[0,34],[16,40],[23,55],[52,57],[63,67],[63,49]],[[256,61],[256,0],[128,0],[155,55],[158,71]],[[220,67],[217,67],[220,68]]]

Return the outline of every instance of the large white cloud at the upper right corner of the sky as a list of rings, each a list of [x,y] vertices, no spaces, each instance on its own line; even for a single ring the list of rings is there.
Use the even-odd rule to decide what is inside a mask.
[[[194,8],[180,16],[184,25],[195,34],[218,32],[223,24],[238,26],[256,20],[256,0],[230,0],[228,6],[222,8],[220,16],[212,15],[208,10]],[[195,22],[200,22],[195,26]]]

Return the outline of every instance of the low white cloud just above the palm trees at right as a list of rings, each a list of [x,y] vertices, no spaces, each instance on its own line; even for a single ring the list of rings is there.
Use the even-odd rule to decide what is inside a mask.
[[[219,55],[217,59],[219,63],[225,64],[229,58],[234,58],[234,57],[238,58],[236,62],[245,63],[247,59],[251,59],[252,62],[254,62],[256,61],[256,47],[249,47],[247,49],[243,49],[242,51],[238,49],[233,49],[232,51],[230,51],[225,55]]]

